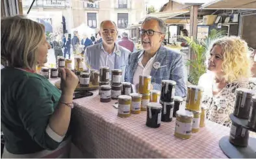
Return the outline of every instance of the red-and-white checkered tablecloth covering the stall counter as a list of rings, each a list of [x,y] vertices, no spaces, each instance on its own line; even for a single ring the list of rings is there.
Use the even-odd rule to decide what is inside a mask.
[[[73,143],[97,158],[227,158],[218,143],[229,128],[207,121],[192,138],[175,138],[175,118],[159,128],[146,127],[146,112],[117,116],[116,101],[101,103],[97,91],[75,99],[71,116]]]

